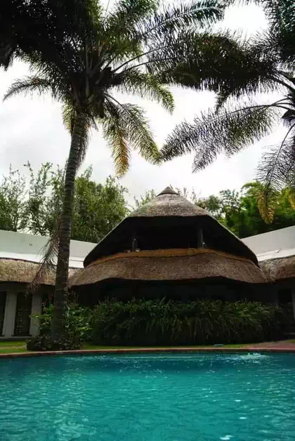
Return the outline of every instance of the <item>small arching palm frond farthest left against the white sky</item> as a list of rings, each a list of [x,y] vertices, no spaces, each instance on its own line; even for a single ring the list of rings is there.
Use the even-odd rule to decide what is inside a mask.
[[[8,91],[4,95],[4,100],[17,96],[20,93],[34,93],[37,92],[40,95],[43,93],[51,92],[55,95],[55,88],[48,79],[40,77],[25,77],[23,79],[17,79],[8,88]]]

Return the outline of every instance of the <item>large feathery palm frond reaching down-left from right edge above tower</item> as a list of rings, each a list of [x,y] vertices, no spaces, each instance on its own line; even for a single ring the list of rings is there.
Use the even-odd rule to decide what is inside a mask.
[[[209,111],[195,117],[194,123],[176,126],[162,148],[164,161],[195,152],[193,171],[204,169],[218,154],[228,156],[268,135],[278,119],[270,106],[249,103],[222,114]]]

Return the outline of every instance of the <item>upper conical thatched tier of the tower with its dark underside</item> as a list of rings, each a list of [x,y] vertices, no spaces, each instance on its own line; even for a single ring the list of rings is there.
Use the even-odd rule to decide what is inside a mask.
[[[248,258],[258,265],[255,254],[232,232],[206,210],[166,187],[155,199],[119,223],[86,256],[84,266],[131,249],[133,237],[138,239],[140,249],[195,248],[198,228],[203,230],[207,247]]]

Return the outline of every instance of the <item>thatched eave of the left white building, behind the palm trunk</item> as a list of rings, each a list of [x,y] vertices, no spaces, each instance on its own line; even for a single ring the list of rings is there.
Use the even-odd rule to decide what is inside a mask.
[[[0,258],[0,282],[30,283],[39,270],[39,263],[21,259]],[[69,275],[76,270],[71,268]],[[42,285],[54,286],[55,271],[48,272]]]

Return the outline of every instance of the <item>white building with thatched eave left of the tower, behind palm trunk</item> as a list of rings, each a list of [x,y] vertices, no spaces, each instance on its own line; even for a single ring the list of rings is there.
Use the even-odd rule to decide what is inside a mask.
[[[0,338],[38,334],[37,321],[29,316],[41,313],[42,298],[53,294],[55,275],[46,275],[34,294],[27,294],[27,284],[39,270],[47,242],[48,237],[0,230]],[[71,241],[70,274],[83,268],[85,256],[95,245]]]

